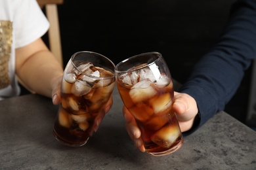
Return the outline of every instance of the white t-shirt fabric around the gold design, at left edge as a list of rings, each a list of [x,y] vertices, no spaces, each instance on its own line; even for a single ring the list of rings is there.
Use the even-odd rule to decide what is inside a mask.
[[[35,0],[0,0],[0,21],[12,22],[12,46],[9,59],[11,85],[0,90],[0,99],[17,96],[20,88],[15,76],[15,48],[42,37],[49,22]]]

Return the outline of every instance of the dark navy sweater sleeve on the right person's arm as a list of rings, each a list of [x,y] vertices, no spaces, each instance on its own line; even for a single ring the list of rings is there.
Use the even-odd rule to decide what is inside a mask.
[[[224,106],[240,86],[245,70],[256,58],[256,0],[237,1],[213,49],[196,63],[180,92],[196,99],[202,126]]]

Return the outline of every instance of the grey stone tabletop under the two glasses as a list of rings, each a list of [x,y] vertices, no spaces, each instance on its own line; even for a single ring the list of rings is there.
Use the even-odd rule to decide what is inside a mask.
[[[58,107],[40,95],[0,101],[0,169],[256,169],[256,133],[219,112],[180,150],[154,157],[127,135],[122,102],[114,105],[88,143],[64,146],[53,137]]]

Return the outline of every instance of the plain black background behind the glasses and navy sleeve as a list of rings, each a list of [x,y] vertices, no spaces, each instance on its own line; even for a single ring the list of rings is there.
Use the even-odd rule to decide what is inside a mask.
[[[114,63],[157,51],[173,78],[185,82],[193,65],[221,34],[234,0],[64,0],[58,6],[64,67],[77,51]],[[47,37],[45,38],[47,39]],[[225,111],[245,120],[251,68]]]

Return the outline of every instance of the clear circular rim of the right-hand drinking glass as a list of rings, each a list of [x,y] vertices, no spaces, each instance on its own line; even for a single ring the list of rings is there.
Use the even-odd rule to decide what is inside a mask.
[[[118,70],[117,67],[119,67],[120,65],[122,65],[123,63],[125,63],[126,61],[129,61],[131,59],[134,59],[134,58],[137,58],[137,57],[140,57],[140,56],[145,56],[145,55],[148,55],[148,54],[158,54],[158,58],[157,59],[154,59],[154,61],[152,61],[151,63],[147,63],[146,65],[143,65],[142,67],[139,67],[139,68],[130,68],[130,69],[127,69],[127,70]],[[161,53],[160,52],[144,52],[144,53],[141,53],[141,54],[137,54],[135,56],[131,56],[130,58],[127,58],[127,59],[123,59],[123,61],[120,61],[119,63],[117,63],[116,67],[115,67],[115,71],[116,73],[130,73],[130,72],[133,72],[133,71],[138,71],[140,69],[143,69],[145,67],[148,67],[150,65],[153,65],[154,63],[156,63],[156,61],[158,61],[159,59],[161,59],[162,56],[161,56]]]

